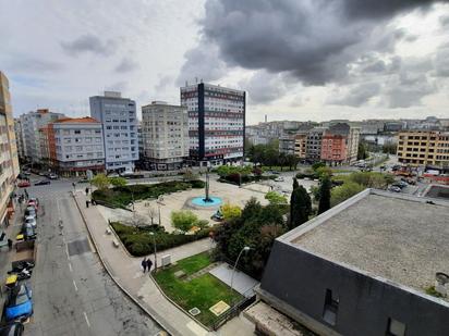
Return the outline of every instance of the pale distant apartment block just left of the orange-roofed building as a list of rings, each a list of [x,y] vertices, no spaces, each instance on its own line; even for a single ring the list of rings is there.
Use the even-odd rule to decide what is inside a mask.
[[[38,109],[37,111],[32,111],[20,116],[23,151],[26,160],[40,163],[39,129],[62,117],[65,117],[65,115],[50,112],[48,109]]]

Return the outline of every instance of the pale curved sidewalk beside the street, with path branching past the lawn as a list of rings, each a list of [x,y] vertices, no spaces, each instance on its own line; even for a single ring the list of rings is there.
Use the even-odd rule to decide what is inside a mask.
[[[116,236],[106,233],[108,224],[96,207],[86,208],[86,196],[76,192],[75,200],[86,222],[90,237],[97,248],[100,259],[116,283],[122,287],[135,301],[137,301],[162,327],[171,335],[214,335],[209,333],[183,311],[172,304],[158,289],[148,274],[141,270],[142,258],[133,258],[120,245],[116,248],[112,240]],[[171,261],[184,259],[211,248],[208,238],[184,245],[182,247],[158,253],[160,258],[171,254]],[[149,256],[154,261],[154,256]],[[253,335],[251,326],[240,318],[230,321],[217,335],[231,335],[233,331],[242,332],[239,335]],[[227,331],[226,333],[223,333]],[[230,333],[228,333],[228,331]]]

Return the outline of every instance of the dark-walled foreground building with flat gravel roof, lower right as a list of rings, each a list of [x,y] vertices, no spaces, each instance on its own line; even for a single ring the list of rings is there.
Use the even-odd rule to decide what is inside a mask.
[[[277,238],[256,291],[318,335],[449,335],[448,221],[447,201],[366,189]]]

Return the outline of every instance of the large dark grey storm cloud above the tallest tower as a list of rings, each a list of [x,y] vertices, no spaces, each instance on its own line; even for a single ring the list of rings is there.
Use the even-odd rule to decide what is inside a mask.
[[[218,58],[206,61],[210,66],[220,59],[229,66],[289,72],[305,85],[338,82],[362,51],[391,50],[404,38],[404,32],[385,28],[389,20],[432,2],[436,1],[208,0],[203,41],[185,54],[181,76],[201,73],[198,53],[217,48]]]

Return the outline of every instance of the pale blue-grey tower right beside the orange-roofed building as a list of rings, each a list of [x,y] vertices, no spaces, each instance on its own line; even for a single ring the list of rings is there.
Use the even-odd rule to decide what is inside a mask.
[[[135,101],[120,92],[89,98],[90,116],[102,125],[107,171],[133,171],[138,160]]]

